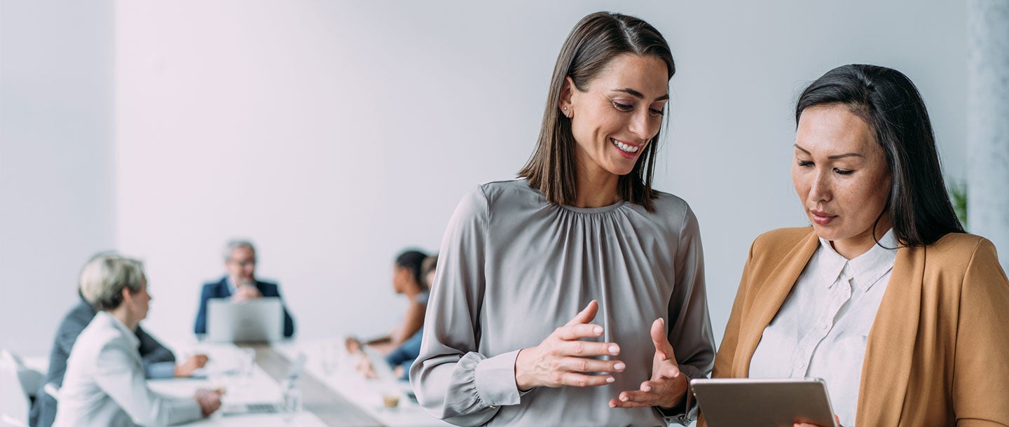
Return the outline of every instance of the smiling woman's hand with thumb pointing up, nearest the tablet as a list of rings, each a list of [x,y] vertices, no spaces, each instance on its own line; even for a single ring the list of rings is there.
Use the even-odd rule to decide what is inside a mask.
[[[666,336],[662,318],[652,322],[652,343],[655,344],[652,379],[642,383],[640,390],[621,392],[616,399],[610,399],[610,408],[672,408],[683,400],[687,392],[687,377],[680,373],[676,364],[673,345]]]

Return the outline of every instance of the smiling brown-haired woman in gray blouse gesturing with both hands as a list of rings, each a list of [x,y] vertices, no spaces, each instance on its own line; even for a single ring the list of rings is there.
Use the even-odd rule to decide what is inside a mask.
[[[652,188],[675,72],[666,40],[613,13],[561,49],[517,180],[459,203],[411,383],[457,425],[686,421],[714,355],[697,221]]]

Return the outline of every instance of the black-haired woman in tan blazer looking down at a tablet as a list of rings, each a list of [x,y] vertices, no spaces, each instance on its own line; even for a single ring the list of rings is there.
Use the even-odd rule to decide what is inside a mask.
[[[917,89],[839,66],[795,120],[812,227],[754,241],[712,377],[822,378],[845,426],[1009,425],[1009,281],[954,214]]]

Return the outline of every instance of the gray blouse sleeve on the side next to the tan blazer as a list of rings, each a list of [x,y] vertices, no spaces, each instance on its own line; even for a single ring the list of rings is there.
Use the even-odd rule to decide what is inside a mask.
[[[673,266],[676,284],[669,299],[669,342],[673,345],[680,371],[688,379],[705,378],[714,365],[714,334],[707,312],[700,227],[689,206],[684,211],[682,225]],[[662,412],[667,422],[688,424],[696,418],[696,408],[691,402],[680,410],[682,413],[678,414]]]

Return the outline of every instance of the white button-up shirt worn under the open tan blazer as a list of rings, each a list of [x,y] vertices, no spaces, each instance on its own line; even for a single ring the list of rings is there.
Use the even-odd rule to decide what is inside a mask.
[[[897,258],[890,230],[848,260],[820,239],[750,361],[750,378],[820,378],[842,425],[855,425],[866,339]],[[882,245],[883,248],[880,245]]]

